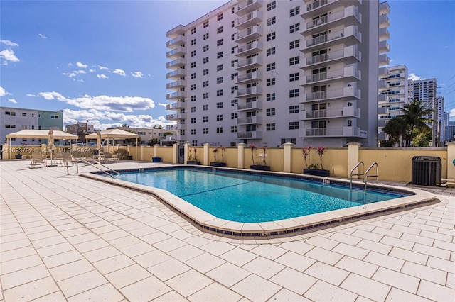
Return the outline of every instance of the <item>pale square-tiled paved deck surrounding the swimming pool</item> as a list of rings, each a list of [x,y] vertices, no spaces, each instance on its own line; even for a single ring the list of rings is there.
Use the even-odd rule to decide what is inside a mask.
[[[0,161],[0,301],[454,301],[455,189],[424,189],[438,200],[422,206],[242,238],[75,167],[29,163]]]

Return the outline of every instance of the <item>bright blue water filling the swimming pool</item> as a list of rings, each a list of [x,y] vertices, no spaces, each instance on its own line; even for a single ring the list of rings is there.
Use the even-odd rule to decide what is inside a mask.
[[[213,216],[242,223],[294,218],[403,196],[380,191],[364,194],[339,185],[220,170],[127,172],[119,179],[165,189]]]

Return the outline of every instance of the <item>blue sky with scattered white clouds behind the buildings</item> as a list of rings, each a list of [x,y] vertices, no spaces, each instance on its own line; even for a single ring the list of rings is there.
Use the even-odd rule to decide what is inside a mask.
[[[0,104],[95,129],[170,124],[166,31],[225,2],[1,1]],[[390,64],[437,78],[455,119],[455,1],[388,2]]]

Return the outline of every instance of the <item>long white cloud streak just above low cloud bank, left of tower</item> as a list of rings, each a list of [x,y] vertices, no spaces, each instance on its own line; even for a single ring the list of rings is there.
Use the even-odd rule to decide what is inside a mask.
[[[82,109],[96,109],[107,111],[132,112],[134,110],[148,110],[155,107],[152,99],[141,96],[80,96],[75,99],[66,98],[58,92],[40,92],[38,96],[46,100],[63,101],[66,104]]]

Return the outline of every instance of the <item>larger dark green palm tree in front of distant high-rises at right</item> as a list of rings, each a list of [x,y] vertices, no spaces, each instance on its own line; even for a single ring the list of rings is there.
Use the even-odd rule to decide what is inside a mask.
[[[414,99],[410,104],[403,106],[402,118],[407,124],[407,146],[411,145],[412,138],[414,137],[414,130],[428,127],[425,122],[432,122],[424,116],[428,116],[433,112],[433,109],[427,108],[423,101]]]

